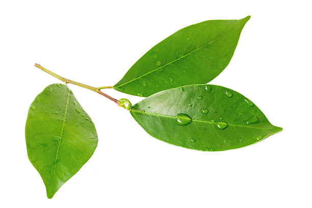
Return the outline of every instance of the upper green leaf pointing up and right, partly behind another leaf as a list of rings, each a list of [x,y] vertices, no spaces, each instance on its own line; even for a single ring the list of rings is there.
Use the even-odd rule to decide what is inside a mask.
[[[177,31],[141,57],[114,89],[147,97],[212,81],[231,60],[249,18],[209,20]]]

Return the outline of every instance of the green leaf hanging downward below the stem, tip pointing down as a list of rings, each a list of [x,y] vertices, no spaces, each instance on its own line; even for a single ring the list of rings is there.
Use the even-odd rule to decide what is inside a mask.
[[[48,198],[90,159],[98,141],[91,118],[61,84],[49,85],[33,101],[25,137]]]

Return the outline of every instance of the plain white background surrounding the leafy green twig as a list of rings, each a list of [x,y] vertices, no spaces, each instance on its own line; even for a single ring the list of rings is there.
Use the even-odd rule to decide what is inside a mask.
[[[1,207],[311,207],[309,1],[4,1],[0,3]],[[281,133],[202,152],[149,136],[110,100],[70,85],[97,128],[92,158],[47,199],[27,157],[28,108],[59,83],[35,63],[114,85],[145,52],[190,24],[251,15],[211,83],[253,100]],[[132,103],[140,97],[105,90]]]

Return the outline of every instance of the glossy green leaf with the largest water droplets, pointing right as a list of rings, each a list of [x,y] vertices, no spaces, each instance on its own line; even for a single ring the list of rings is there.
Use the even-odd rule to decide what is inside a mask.
[[[248,98],[216,85],[189,85],[153,94],[131,115],[151,136],[181,147],[222,151],[280,132]]]

